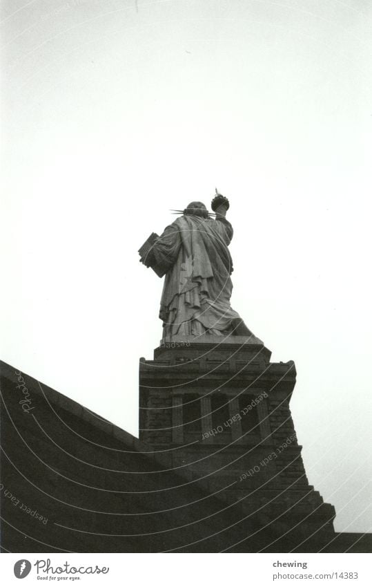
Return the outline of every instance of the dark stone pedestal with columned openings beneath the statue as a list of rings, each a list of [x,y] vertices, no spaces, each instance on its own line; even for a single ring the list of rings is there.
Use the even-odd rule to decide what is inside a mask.
[[[295,364],[255,337],[220,340],[162,341],[140,360],[140,439],[278,547],[329,540],[335,510],[309,485],[289,409]]]

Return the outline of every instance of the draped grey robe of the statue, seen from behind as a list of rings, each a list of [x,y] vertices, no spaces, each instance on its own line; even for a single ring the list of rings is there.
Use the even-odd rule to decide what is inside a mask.
[[[164,338],[251,335],[230,305],[232,237],[226,218],[194,215],[180,216],[159,236],[152,257],[166,271],[159,313]]]

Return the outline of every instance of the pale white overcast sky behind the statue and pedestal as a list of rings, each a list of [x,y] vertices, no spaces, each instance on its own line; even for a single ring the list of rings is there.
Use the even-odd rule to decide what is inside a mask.
[[[136,9],[137,4],[137,9]],[[366,531],[368,0],[3,0],[1,356],[137,435],[170,208],[231,201],[232,306],[294,360],[336,530]]]

